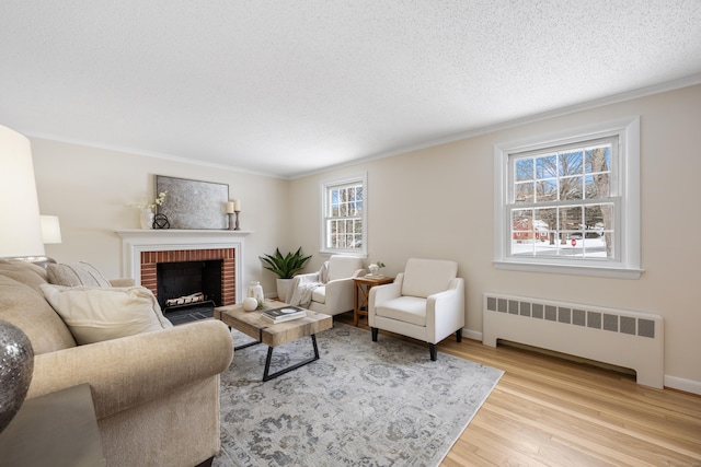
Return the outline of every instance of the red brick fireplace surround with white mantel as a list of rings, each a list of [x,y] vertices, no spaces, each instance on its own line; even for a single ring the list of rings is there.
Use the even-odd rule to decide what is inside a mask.
[[[124,230],[123,276],[150,289],[158,296],[160,262],[221,260],[221,301],[230,305],[243,299],[244,231]]]

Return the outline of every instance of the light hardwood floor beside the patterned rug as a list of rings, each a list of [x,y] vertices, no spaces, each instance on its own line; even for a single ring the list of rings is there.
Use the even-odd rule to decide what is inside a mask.
[[[348,315],[334,319],[352,325]],[[701,467],[701,396],[529,350],[458,343],[455,336],[438,350],[505,371],[444,467]]]

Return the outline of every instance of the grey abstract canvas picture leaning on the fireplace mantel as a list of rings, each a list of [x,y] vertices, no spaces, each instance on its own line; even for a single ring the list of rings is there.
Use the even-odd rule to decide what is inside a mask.
[[[168,217],[171,229],[227,229],[221,214],[229,200],[229,185],[156,175],[156,189],[168,190],[159,212]]]

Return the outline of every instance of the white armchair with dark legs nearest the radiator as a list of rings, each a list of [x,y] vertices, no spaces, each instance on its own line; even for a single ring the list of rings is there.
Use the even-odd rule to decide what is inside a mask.
[[[368,323],[372,341],[378,329],[428,342],[430,360],[436,343],[456,332],[462,340],[464,327],[464,280],[457,277],[458,264],[439,259],[410,258],[393,283],[370,289]]]

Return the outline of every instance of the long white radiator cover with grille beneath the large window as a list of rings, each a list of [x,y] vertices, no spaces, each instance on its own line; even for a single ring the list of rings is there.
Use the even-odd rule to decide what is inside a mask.
[[[663,388],[665,328],[659,315],[485,293],[482,342],[497,339],[635,370]]]

